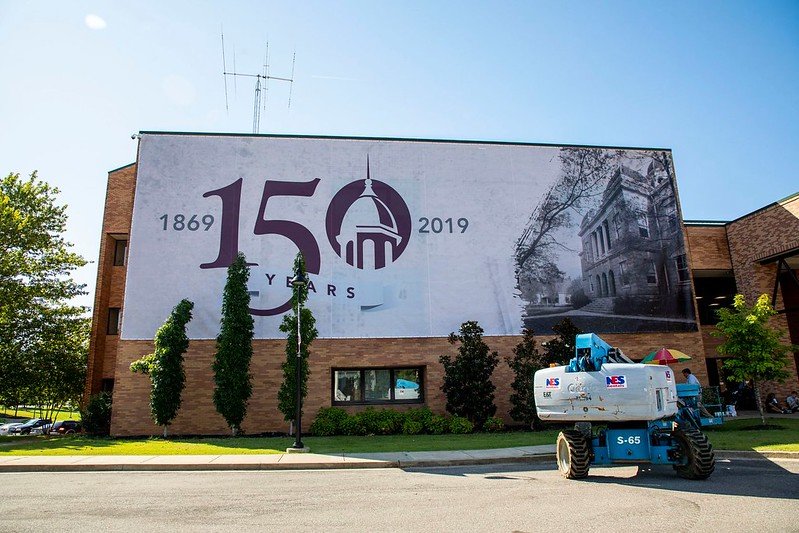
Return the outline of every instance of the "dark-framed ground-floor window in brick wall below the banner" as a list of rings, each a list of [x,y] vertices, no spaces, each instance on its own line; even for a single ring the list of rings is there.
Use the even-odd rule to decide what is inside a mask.
[[[333,404],[422,403],[423,369],[333,370]]]

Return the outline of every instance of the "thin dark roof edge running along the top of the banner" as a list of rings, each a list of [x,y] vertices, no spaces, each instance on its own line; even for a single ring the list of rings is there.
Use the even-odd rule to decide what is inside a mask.
[[[468,139],[419,139],[414,137],[357,137],[348,135],[296,135],[288,133],[208,133],[198,131],[140,131],[139,135],[200,135],[203,137],[266,137],[275,139],[331,139],[350,141],[401,141],[401,142],[433,142],[456,144],[492,144],[509,146],[548,146],[555,148],[605,148],[622,150],[649,150],[656,152],[669,152],[671,148],[647,148],[641,146],[606,146],[591,144],[556,144],[556,143],[528,143],[521,141],[478,141]]]

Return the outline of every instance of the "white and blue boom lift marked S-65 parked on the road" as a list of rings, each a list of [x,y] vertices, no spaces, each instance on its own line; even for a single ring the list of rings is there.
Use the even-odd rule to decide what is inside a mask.
[[[631,463],[673,465],[687,479],[713,473],[698,391],[678,388],[668,366],[633,363],[585,333],[577,335],[568,365],[539,370],[534,381],[539,418],[575,422],[574,429],[560,432],[556,445],[565,477],[584,478],[591,465]]]

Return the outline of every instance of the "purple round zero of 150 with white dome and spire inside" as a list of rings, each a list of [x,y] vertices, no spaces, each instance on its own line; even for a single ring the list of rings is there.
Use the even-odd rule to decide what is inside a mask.
[[[336,193],[325,229],[333,250],[347,264],[378,270],[399,259],[408,246],[411,214],[397,191],[371,178],[367,158],[366,179]]]

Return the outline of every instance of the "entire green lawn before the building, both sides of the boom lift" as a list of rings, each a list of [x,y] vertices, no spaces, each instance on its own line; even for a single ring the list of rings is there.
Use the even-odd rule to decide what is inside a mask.
[[[799,451],[799,419],[769,418],[769,424],[785,429],[747,430],[759,419],[731,420],[707,428],[716,450]],[[480,450],[555,444],[558,430],[472,435],[387,435],[369,437],[306,437],[314,453],[369,453],[400,451]],[[0,437],[0,456],[5,455],[225,455],[283,453],[289,437],[198,437],[174,439],[114,439],[92,437]]]

